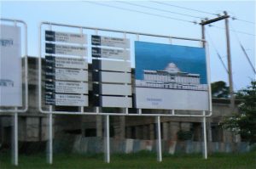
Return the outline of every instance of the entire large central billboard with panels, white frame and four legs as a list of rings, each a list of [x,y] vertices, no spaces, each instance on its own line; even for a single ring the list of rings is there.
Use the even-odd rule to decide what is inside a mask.
[[[47,28],[44,28],[46,26]],[[54,26],[55,29],[52,29]],[[60,28],[78,32],[63,32]],[[106,37],[101,32],[123,37]],[[86,35],[83,34],[86,32]],[[92,34],[92,32],[96,32]],[[137,41],[127,39],[137,37]],[[44,40],[42,41],[42,37]],[[207,159],[206,117],[212,115],[209,57],[204,48],[143,42],[143,37],[205,42],[204,39],[170,37],[80,25],[42,22],[39,26],[38,108],[49,115],[49,164],[52,164],[52,115],[105,116],[105,161],[110,162],[109,117],[111,115],[154,116],[157,123],[157,161],[162,161],[160,117],[199,117],[204,124],[204,157]],[[87,42],[88,41],[88,42]],[[135,83],[131,77],[131,42],[135,55]],[[189,51],[189,53],[181,53]],[[166,54],[163,54],[166,52]],[[206,57],[207,55],[207,57]],[[92,93],[89,99],[88,59],[91,60]],[[45,59],[45,79],[42,60]],[[192,62],[190,62],[191,60]],[[195,60],[198,59],[198,60]],[[190,61],[189,61],[190,60]],[[192,63],[192,65],[191,65]],[[194,63],[199,63],[196,65]],[[191,65],[191,66],[190,66]],[[197,69],[199,68],[199,69]],[[43,84],[43,85],[42,85]],[[42,88],[45,84],[44,95]],[[43,86],[43,87],[42,87]],[[44,96],[44,101],[42,100]],[[198,100],[200,99],[200,100]],[[95,111],[86,111],[89,100]],[[55,108],[62,106],[61,110]],[[63,106],[80,108],[63,110]],[[100,108],[121,112],[100,112]],[[137,113],[128,108],[137,109]],[[170,113],[146,113],[170,110]],[[193,110],[182,114],[177,110]]]

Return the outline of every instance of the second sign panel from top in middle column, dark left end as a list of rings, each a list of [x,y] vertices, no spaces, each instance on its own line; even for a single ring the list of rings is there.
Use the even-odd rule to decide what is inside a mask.
[[[130,60],[130,51],[112,48],[91,48],[91,55],[95,58]]]

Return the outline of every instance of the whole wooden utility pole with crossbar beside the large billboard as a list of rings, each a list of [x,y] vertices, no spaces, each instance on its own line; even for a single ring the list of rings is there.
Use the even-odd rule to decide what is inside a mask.
[[[232,65],[231,65],[231,54],[230,54],[230,31],[229,31],[229,18],[230,16],[224,11],[223,16],[214,18],[212,20],[201,20],[201,37],[205,39],[205,25],[212,24],[219,20],[225,20],[225,31],[226,31],[226,42],[227,42],[227,61],[228,61],[228,74],[229,74],[229,83],[230,83],[230,109],[233,111],[235,109],[235,96],[233,89],[233,78],[232,78]],[[203,48],[205,48],[205,42],[203,42]]]

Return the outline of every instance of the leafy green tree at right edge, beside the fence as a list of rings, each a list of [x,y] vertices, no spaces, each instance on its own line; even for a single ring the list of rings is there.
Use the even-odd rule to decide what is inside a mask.
[[[256,143],[256,81],[236,93],[236,99],[241,99],[241,104],[238,105],[239,113],[226,117],[222,127],[241,134],[241,138],[252,144]]]

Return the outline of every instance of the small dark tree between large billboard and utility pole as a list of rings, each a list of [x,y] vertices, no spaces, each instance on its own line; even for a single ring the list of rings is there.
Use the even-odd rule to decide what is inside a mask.
[[[212,98],[228,98],[229,87],[223,81],[212,82]]]

